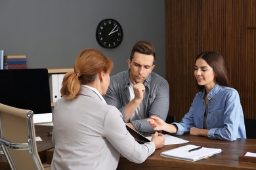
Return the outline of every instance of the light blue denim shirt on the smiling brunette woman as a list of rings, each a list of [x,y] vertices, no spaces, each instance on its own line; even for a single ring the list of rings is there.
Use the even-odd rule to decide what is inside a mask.
[[[189,132],[190,127],[203,129],[203,116],[205,114],[205,90],[198,92],[188,113],[181,122],[173,123],[178,127],[175,135]],[[209,129],[207,136],[210,139],[235,141],[237,138],[246,138],[244,114],[240,97],[236,90],[215,84],[207,95],[209,103],[206,117],[206,126]]]

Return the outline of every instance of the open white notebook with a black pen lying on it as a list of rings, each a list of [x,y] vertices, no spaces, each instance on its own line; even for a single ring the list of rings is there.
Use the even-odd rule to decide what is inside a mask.
[[[198,148],[198,149],[193,150],[195,148]],[[190,150],[193,150],[193,151],[190,151]],[[165,158],[173,158],[177,160],[198,161],[198,160],[202,160],[203,158],[207,158],[209,156],[213,156],[221,152],[222,150],[220,148],[205,148],[205,147],[196,146],[194,144],[187,144],[184,146],[180,146],[178,148],[173,148],[171,150],[163,151],[161,152],[160,155]]]

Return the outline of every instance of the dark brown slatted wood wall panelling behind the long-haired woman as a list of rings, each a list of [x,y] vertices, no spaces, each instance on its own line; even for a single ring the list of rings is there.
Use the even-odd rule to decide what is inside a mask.
[[[165,0],[165,68],[170,84],[169,114],[188,112],[198,92],[194,59],[220,52],[244,115],[256,118],[256,0]]]

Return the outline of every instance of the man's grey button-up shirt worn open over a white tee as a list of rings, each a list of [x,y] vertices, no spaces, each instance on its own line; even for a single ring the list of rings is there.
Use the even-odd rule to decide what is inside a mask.
[[[130,101],[129,69],[111,76],[110,86],[104,99],[108,105],[114,105],[119,109],[125,121],[125,106]],[[146,88],[143,97],[143,119],[133,120],[131,123],[140,133],[154,133],[154,129],[146,121],[150,116],[157,116],[165,120],[169,110],[169,84],[160,75],[151,72],[144,81]],[[128,121],[130,122],[130,121]]]

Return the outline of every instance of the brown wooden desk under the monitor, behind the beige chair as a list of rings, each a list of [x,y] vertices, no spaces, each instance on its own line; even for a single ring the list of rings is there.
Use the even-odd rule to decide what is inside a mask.
[[[46,151],[53,148],[52,137],[47,136],[47,132],[52,131],[53,126],[37,126],[35,125],[35,135],[41,137],[43,141],[37,142],[37,152],[42,163],[46,163]],[[0,154],[0,169],[11,169],[5,155]]]

